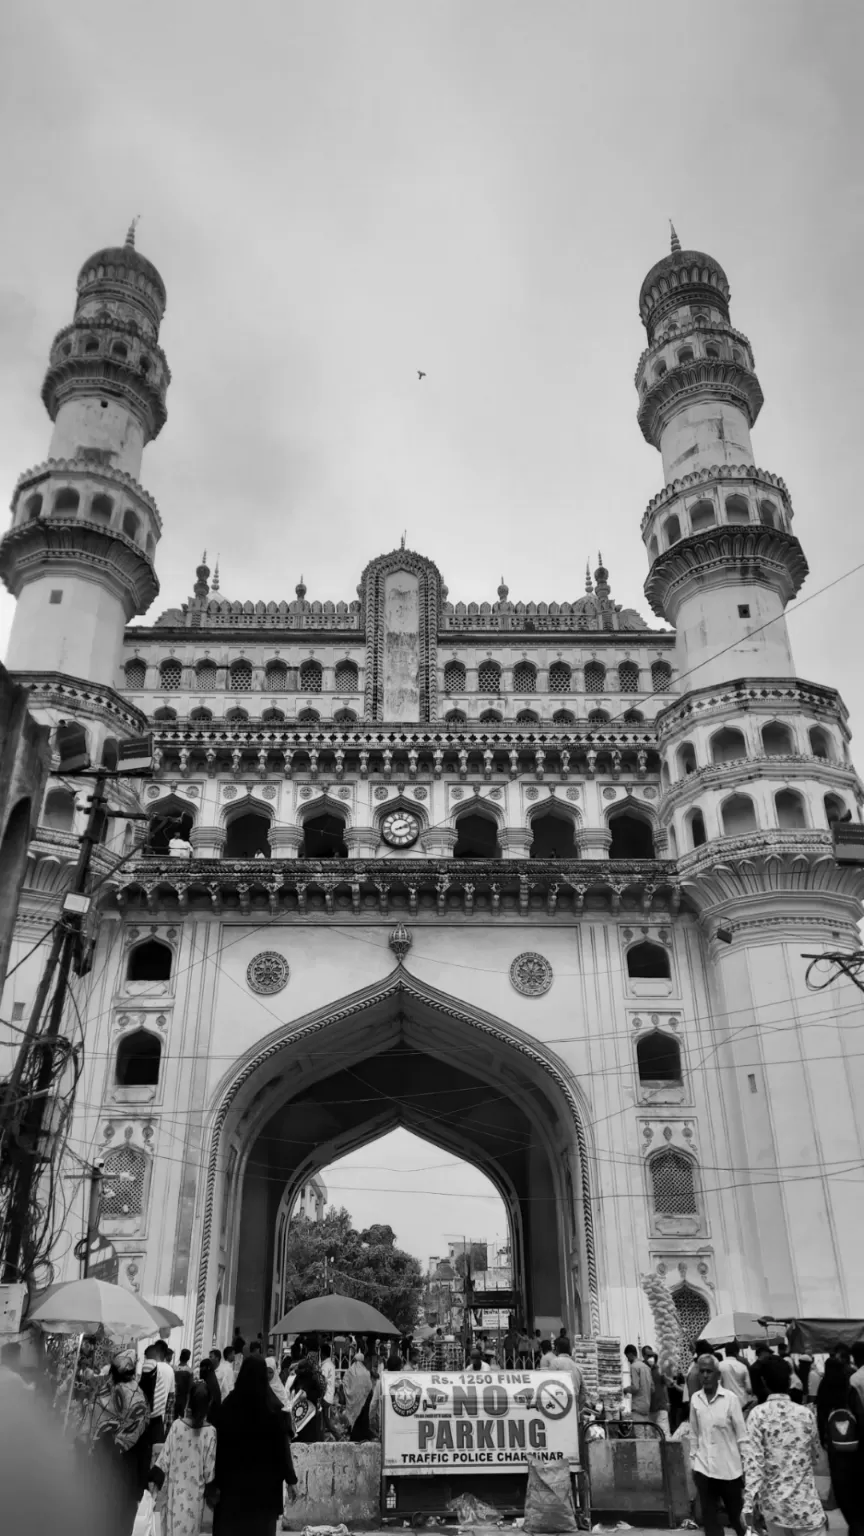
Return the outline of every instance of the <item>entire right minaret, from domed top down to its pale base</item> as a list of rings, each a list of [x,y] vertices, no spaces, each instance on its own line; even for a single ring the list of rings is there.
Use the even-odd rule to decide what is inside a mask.
[[[806,982],[807,954],[859,943],[864,880],[832,836],[859,820],[847,714],[833,688],[795,676],[784,610],[807,564],[783,479],[753,459],[763,392],[723,267],[673,233],[640,312],[638,419],[666,476],[643,519],[646,593],[678,636],[680,697],[656,722],[660,817],[701,929],[698,1091],[730,1147],[706,1180],[715,1236],[750,1309],[850,1316],[864,1244],[839,1170],[864,1146],[846,1060],[862,1000]]]

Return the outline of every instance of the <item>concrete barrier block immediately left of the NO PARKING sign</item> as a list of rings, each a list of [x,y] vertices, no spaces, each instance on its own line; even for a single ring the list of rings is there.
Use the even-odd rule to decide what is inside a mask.
[[[377,1441],[321,1441],[291,1447],[297,1498],[286,1499],[283,1530],[304,1525],[340,1525],[349,1530],[381,1525],[381,1447]]]

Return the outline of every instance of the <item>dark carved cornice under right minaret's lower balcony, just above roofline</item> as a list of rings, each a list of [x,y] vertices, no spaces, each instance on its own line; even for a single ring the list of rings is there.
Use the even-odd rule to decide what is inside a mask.
[[[704,587],[752,581],[773,587],[789,602],[801,588],[807,570],[795,535],[763,524],[723,525],[693,533],[663,550],[647,574],[644,593],[653,611],[664,617],[693,582]]]

